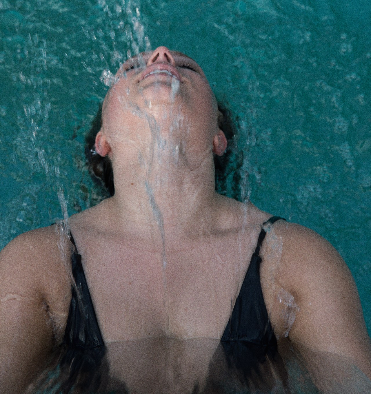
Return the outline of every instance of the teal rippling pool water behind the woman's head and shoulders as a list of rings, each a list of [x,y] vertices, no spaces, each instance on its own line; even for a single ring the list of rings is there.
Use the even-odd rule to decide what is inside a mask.
[[[84,164],[101,74],[166,45],[238,125],[222,192],[239,172],[259,208],[329,240],[371,333],[370,20],[368,0],[0,0],[0,248],[102,198]]]

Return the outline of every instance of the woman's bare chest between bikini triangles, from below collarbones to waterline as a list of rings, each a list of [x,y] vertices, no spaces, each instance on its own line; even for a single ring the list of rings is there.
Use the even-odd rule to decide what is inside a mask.
[[[220,338],[252,249],[231,239],[176,251],[89,246],[82,261],[104,341]]]

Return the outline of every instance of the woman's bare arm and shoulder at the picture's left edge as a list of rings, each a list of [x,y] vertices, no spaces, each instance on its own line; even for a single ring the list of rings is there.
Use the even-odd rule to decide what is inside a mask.
[[[0,252],[0,392],[19,393],[60,342],[70,284],[54,227],[27,232]]]

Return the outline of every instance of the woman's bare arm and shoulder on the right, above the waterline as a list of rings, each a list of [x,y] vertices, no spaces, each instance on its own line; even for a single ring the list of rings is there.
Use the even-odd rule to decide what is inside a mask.
[[[278,282],[298,305],[289,338],[347,357],[371,379],[371,342],[344,260],[324,238],[300,225],[277,223],[272,233],[282,240]]]

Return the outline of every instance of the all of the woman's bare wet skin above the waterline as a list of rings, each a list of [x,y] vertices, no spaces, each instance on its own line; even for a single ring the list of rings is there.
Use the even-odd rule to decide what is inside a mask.
[[[227,142],[197,63],[163,46],[142,59],[117,72],[96,139],[97,152],[112,161],[115,195],[72,216],[71,232],[106,344],[220,340],[271,215],[215,192],[213,154],[222,155]],[[147,75],[154,70],[173,77]],[[63,337],[71,252],[67,241],[60,253],[59,239],[54,226],[32,230],[0,252],[2,392],[25,387]],[[289,339],[347,357],[371,377],[357,289],[330,243],[279,221],[261,256],[275,335],[283,338],[289,329]],[[289,294],[297,306],[292,327],[283,318],[288,307],[278,301]],[[125,379],[125,371],[121,375]]]

